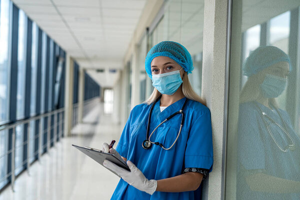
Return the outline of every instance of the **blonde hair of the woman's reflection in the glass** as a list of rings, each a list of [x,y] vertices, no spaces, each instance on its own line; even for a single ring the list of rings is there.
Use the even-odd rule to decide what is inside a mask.
[[[260,92],[260,83],[263,81],[263,74],[253,74],[248,77],[248,80],[242,87],[239,94],[239,103],[256,101],[261,95]],[[269,103],[278,108],[278,103],[276,98],[269,98]]]

